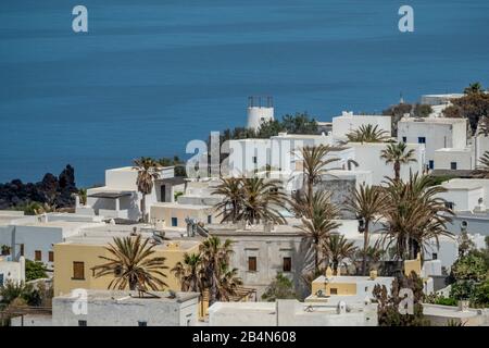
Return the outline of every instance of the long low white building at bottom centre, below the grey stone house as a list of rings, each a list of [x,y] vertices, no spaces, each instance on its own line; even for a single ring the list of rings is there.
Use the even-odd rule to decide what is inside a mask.
[[[209,326],[376,326],[377,304],[324,302],[216,302],[209,308]]]

